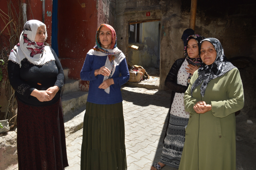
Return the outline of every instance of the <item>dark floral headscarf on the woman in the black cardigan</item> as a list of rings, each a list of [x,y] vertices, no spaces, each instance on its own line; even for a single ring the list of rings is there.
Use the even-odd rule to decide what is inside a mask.
[[[197,66],[197,67],[200,67],[200,66],[202,65],[202,60],[201,60],[201,58],[200,58],[200,45],[201,45],[200,42],[201,42],[204,38],[205,38],[205,37],[203,37],[203,36],[201,36],[201,35],[197,35],[197,34],[195,34],[195,35],[190,35],[190,36],[187,38],[187,40],[186,40],[187,43],[186,43],[185,48],[184,48],[184,55],[185,55],[185,57],[186,57],[186,60],[187,60],[188,64],[191,64],[191,65],[194,65],[194,66]],[[189,41],[190,39],[194,39],[194,40],[196,40],[196,42],[197,42],[198,50],[199,50],[199,54],[198,54],[198,57],[197,57],[197,58],[190,58],[190,57],[188,56],[187,46],[188,46],[188,41]],[[187,80],[187,86],[188,86],[189,83],[190,83],[191,77],[192,77],[192,74],[189,73],[189,77],[188,77],[188,80]]]

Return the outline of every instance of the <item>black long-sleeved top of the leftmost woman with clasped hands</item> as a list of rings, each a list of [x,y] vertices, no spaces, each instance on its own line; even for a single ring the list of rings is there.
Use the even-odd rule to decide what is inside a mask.
[[[60,61],[51,48],[55,61],[43,65],[35,65],[24,58],[21,61],[21,68],[18,63],[8,61],[8,76],[12,87],[16,90],[16,97],[26,105],[48,106],[54,104],[60,98],[60,91],[64,82],[64,72]],[[39,84],[41,85],[39,85]],[[30,95],[37,90],[47,90],[49,87],[58,86],[60,90],[50,101],[39,101]]]

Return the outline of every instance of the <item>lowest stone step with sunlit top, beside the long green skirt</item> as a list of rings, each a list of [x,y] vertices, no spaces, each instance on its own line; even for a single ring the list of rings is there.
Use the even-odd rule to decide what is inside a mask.
[[[83,127],[83,117],[85,115],[86,106],[68,112],[64,116],[64,126],[66,135],[75,133]]]

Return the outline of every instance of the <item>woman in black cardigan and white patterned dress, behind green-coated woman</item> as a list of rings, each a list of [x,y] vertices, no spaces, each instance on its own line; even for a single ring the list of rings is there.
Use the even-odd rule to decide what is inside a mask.
[[[152,165],[151,170],[160,170],[165,165],[178,169],[180,165],[185,142],[185,127],[189,119],[189,112],[184,108],[183,96],[193,73],[201,66],[198,46],[203,39],[204,37],[200,35],[190,35],[187,38],[185,57],[174,62],[164,82],[164,85],[172,90],[171,105],[160,162]]]

